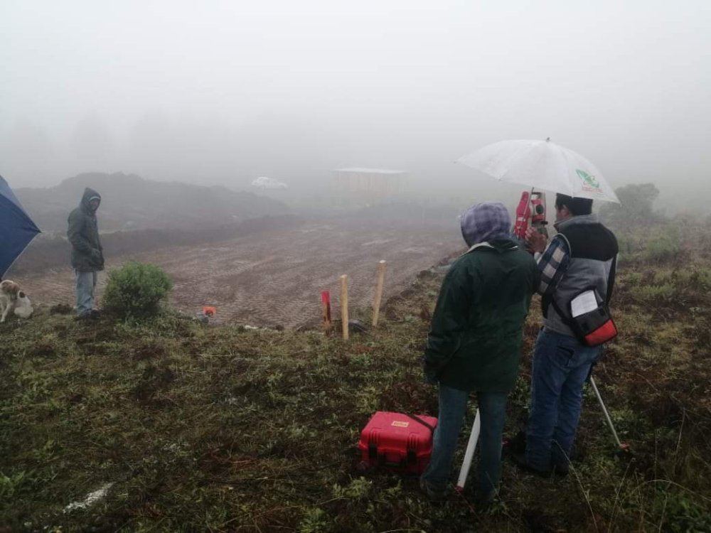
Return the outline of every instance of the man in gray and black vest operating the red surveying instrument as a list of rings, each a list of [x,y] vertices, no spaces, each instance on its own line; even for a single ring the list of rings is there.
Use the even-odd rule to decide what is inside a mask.
[[[559,194],[555,210],[558,233],[547,247],[540,233],[528,234],[541,273],[537,290],[544,320],[533,353],[525,456],[511,456],[518,465],[544,476],[568,472],[582,387],[602,353],[602,345],[584,345],[567,325],[570,301],[592,288],[609,301],[618,252],[614,234],[592,215],[592,200]]]

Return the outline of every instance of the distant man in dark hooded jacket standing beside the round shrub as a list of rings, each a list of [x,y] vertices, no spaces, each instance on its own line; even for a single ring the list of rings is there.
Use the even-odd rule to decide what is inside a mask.
[[[104,254],[99,240],[96,210],[101,196],[85,188],[79,207],[69,215],[67,237],[72,243],[72,267],[77,278],[77,316],[92,316],[97,271],[104,269]]]

